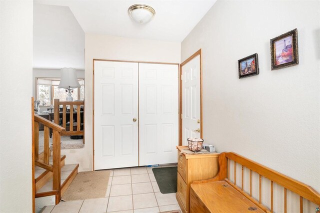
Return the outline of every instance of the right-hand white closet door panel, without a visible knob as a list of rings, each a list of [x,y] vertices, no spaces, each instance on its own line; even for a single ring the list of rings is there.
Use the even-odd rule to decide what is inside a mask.
[[[178,65],[139,63],[139,165],[176,162]]]

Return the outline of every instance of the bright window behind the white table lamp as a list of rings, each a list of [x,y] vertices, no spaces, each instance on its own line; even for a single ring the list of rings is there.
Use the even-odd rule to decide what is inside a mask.
[[[71,96],[73,100],[84,99],[84,79],[78,79],[80,88],[74,88]],[[59,78],[37,78],[36,99],[40,100],[41,105],[53,105],[54,99],[65,100],[67,92],[64,88],[58,88]]]

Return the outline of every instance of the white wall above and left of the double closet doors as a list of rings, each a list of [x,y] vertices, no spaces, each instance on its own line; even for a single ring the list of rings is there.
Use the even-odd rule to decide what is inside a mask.
[[[92,61],[93,58],[180,62],[180,43],[85,34],[84,148],[61,150],[66,163],[79,163],[79,170],[92,170]]]

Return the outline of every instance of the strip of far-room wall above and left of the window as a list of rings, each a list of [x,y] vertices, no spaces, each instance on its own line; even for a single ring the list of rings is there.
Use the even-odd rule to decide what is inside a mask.
[[[62,67],[61,67],[62,68]],[[35,97],[36,91],[36,78],[38,77],[51,77],[51,78],[60,78],[61,71],[60,69],[35,69],[32,70],[32,96]],[[84,70],[76,70],[76,77],[84,78]]]

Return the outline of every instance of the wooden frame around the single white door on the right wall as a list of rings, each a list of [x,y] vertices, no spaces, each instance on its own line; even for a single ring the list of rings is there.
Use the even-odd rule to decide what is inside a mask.
[[[179,101],[179,145],[182,145],[182,66],[188,63],[190,60],[195,58],[196,56],[200,56],[200,137],[203,137],[203,122],[202,122],[202,50],[199,49],[194,52],[190,57],[185,59],[182,63],[180,63],[179,68],[179,82],[180,82],[180,101]]]

